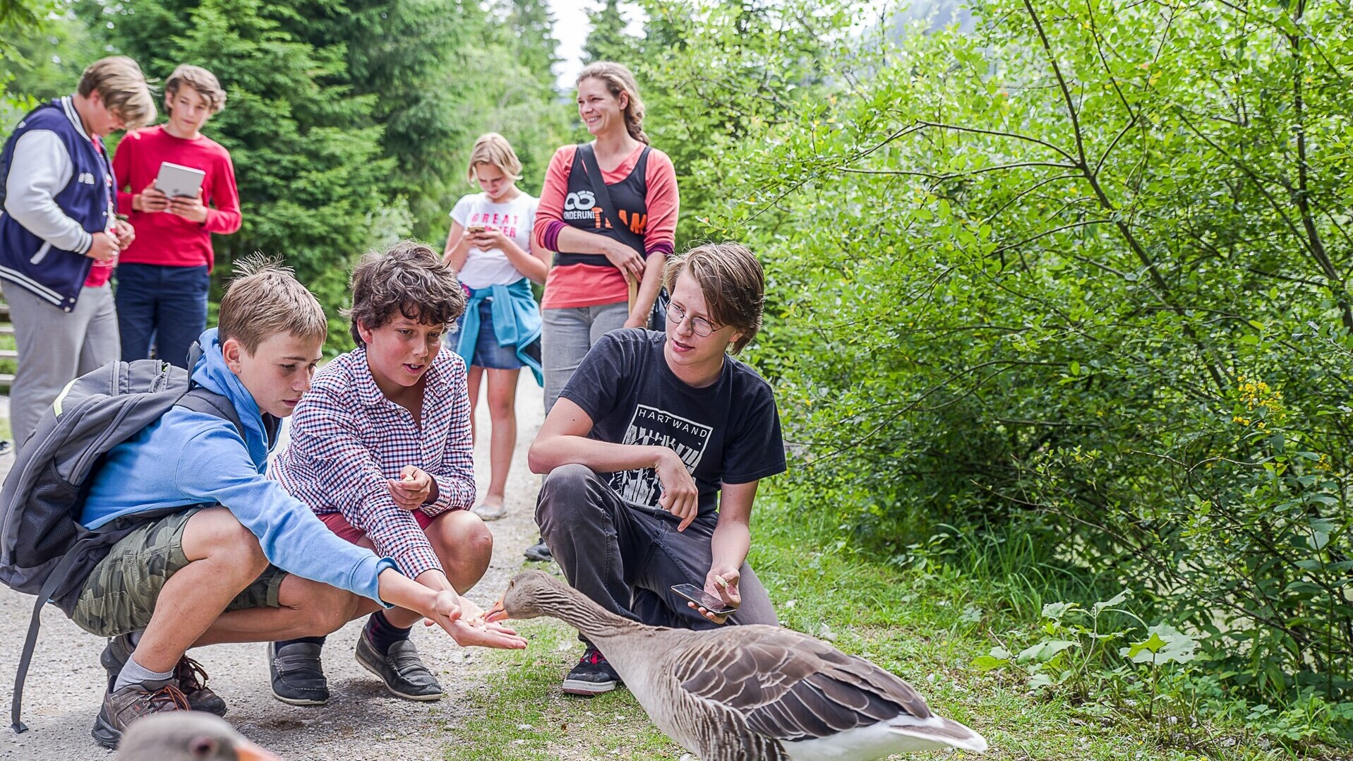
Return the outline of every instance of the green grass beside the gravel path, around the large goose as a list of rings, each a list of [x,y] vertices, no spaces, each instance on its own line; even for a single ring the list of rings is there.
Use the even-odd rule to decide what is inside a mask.
[[[931,707],[981,731],[990,760],[1277,761],[1287,750],[1239,726],[1146,722],[1096,716],[1061,699],[1031,695],[1022,680],[980,674],[969,664],[994,643],[993,632],[1031,626],[1046,599],[1088,585],[1028,558],[1030,547],[959,547],[930,573],[852,554],[821,527],[805,527],[798,508],[764,500],[758,509],[752,565],[770,590],[781,623],[835,638],[912,682]],[[961,543],[962,544],[962,543]],[[1023,558],[1023,559],[1022,559]],[[954,570],[962,567],[962,571]],[[1030,619],[1030,612],[1034,619]],[[620,691],[576,699],[559,691],[580,646],[552,619],[520,622],[525,651],[484,651],[484,685],[465,705],[469,718],[448,726],[448,760],[679,758],[633,697]],[[931,754],[973,758],[971,754]],[[1319,752],[1307,757],[1344,758]]]

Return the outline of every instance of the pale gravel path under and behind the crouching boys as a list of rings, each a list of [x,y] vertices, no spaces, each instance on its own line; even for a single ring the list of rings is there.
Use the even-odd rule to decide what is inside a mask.
[[[8,398],[0,397],[0,414],[8,414]],[[476,421],[475,473],[480,496],[488,482],[488,413],[480,401]],[[469,597],[488,607],[522,565],[521,551],[536,540],[532,520],[540,477],[526,469],[526,448],[544,417],[541,390],[529,371],[517,389],[517,452],[507,481],[507,517],[490,523],[494,558],[483,581]],[[12,455],[0,456],[0,475],[8,473]],[[9,685],[23,647],[32,597],[0,586],[0,695],[8,708]],[[413,703],[390,696],[384,687],[353,661],[353,645],[361,622],[349,623],[329,636],[325,673],[333,693],[327,705],[287,705],[268,689],[265,646],[215,645],[192,651],[211,676],[211,688],[225,697],[227,719],[246,737],[290,761],[331,758],[422,760],[442,758],[445,727],[463,714],[460,697],[484,684],[491,674],[475,668],[475,651],[459,647],[441,630],[414,627],[414,640],[423,659],[446,688],[437,703]],[[112,758],[89,737],[104,691],[99,653],[104,640],[72,624],[49,607],[24,687],[23,719],[28,731],[0,731],[0,760],[68,761]],[[8,722],[5,722],[8,723]]]

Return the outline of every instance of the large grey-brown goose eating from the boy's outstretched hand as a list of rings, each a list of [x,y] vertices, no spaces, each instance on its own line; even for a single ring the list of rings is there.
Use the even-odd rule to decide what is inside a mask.
[[[513,578],[487,619],[536,616],[553,616],[587,636],[658,729],[702,761],[986,750],[982,735],[932,714],[905,681],[797,631],[644,626],[543,571]]]

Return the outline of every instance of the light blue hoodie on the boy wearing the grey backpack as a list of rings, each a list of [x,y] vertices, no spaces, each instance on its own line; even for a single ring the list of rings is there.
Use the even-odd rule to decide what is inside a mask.
[[[97,528],[142,510],[221,504],[258,538],[272,565],[382,603],[376,577],[395,562],[340,539],[310,508],[264,475],[269,444],[258,405],[226,367],[216,329],[206,330],[199,341],[202,357],[192,379],[235,405],[245,437],[227,420],[170,409],[108,452],[93,477],[80,523]]]

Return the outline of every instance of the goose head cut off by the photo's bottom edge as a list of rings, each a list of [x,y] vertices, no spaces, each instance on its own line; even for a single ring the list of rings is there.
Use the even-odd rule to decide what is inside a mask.
[[[202,711],[165,711],[133,722],[118,743],[118,760],[281,761],[221,716]]]

